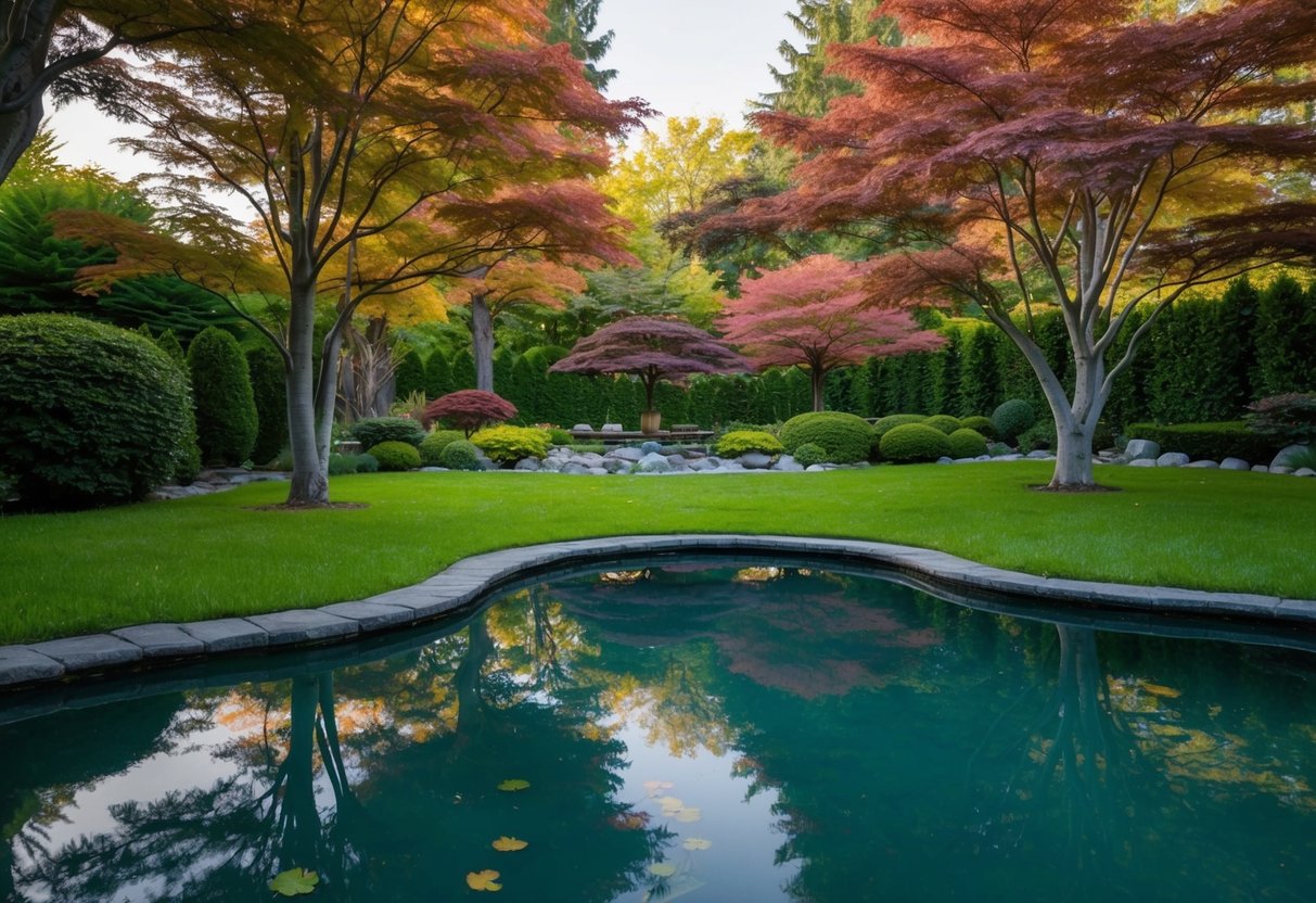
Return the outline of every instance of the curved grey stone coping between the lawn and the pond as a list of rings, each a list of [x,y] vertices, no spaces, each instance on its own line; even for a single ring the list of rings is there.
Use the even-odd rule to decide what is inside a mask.
[[[1105,609],[1291,625],[1316,624],[1316,600],[1312,599],[1037,577],[988,567],[944,552],[888,542],[721,533],[620,536],[488,552],[454,562],[415,586],[357,602],[191,624],[142,624],[109,633],[0,646],[0,690],[24,690],[233,653],[341,642],[433,621],[538,571],[634,555],[701,552],[807,554],[925,578],[946,587],[1025,600],[1074,602]]]

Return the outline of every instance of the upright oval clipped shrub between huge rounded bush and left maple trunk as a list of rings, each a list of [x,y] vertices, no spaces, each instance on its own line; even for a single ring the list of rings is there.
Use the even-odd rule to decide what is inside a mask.
[[[196,400],[201,461],[237,466],[251,457],[258,429],[255,395],[238,340],[218,326],[203,329],[187,349]]]

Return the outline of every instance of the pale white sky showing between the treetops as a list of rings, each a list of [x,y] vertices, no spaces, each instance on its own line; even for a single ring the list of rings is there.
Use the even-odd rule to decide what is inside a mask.
[[[663,116],[720,116],[741,128],[746,101],[774,88],[767,67],[780,64],[778,43],[797,38],[786,20],[796,7],[795,0],[603,0],[597,30],[616,33],[601,63],[617,70],[608,96],[644,97]],[[51,121],[64,163],[96,163],[125,179],[151,167],[112,143],[128,126],[91,104],[54,112]]]

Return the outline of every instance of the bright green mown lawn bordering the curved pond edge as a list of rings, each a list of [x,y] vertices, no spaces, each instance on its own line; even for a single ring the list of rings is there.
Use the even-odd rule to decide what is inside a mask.
[[[791,533],[941,549],[996,567],[1316,598],[1316,479],[1108,467],[1054,495],[1046,463],[829,474],[378,474],[361,509],[254,511],[257,484],[182,502],[0,517],[0,642],[359,599],[470,554],[636,533]]]

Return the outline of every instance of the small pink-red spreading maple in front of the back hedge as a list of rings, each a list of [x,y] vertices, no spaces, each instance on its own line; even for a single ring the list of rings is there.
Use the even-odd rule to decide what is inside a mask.
[[[873,304],[866,266],[826,254],[746,280],[726,301],[719,328],[759,369],[801,367],[813,409],[821,411],[826,375],[870,357],[930,351],[945,341],[920,329],[908,312]]]

